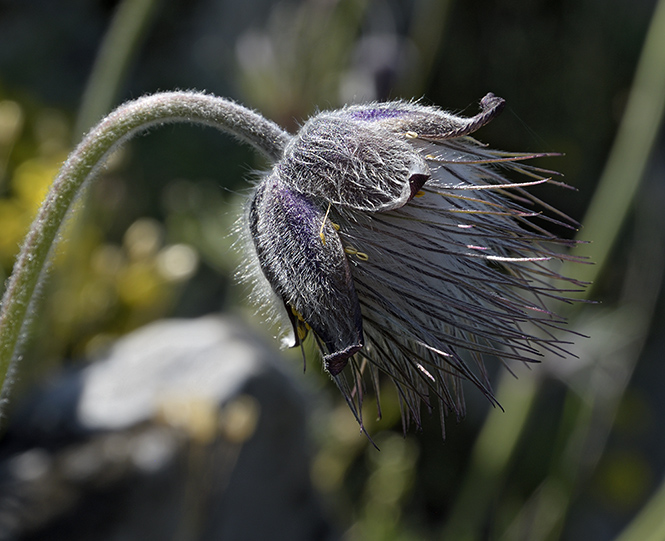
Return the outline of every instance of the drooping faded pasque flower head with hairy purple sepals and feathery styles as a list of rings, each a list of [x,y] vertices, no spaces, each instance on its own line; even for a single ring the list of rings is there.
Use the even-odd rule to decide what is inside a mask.
[[[571,241],[535,220],[572,224],[526,189],[551,173],[469,137],[503,105],[488,94],[470,118],[403,101],[320,113],[250,197],[259,290],[284,308],[292,345],[317,342],[361,427],[366,375],[378,386],[386,374],[405,425],[420,425],[433,398],[442,420],[463,415],[464,379],[494,401],[483,357],[563,351],[546,307],[561,277],[544,262]]]

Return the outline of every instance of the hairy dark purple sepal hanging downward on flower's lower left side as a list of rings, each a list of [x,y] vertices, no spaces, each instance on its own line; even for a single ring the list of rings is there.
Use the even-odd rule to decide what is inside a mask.
[[[306,322],[323,345],[326,369],[337,375],[364,340],[348,260],[326,210],[271,175],[252,196],[249,228],[261,270],[287,309],[293,345]]]

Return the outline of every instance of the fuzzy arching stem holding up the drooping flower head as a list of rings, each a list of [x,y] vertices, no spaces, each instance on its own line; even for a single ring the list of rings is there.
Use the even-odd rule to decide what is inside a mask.
[[[0,311],[0,387],[19,356],[21,333],[35,290],[68,211],[86,181],[130,137],[151,126],[174,122],[208,125],[236,136],[276,160],[290,135],[279,126],[229,100],[195,92],[168,92],[128,102],[104,118],[63,164],[30,227],[7,282]]]

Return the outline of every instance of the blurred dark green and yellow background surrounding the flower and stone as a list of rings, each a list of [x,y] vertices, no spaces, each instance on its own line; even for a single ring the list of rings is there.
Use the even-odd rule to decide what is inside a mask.
[[[377,99],[472,115],[494,92],[507,108],[479,139],[565,154],[542,163],[578,192],[542,196],[585,223],[580,238],[592,244],[582,252],[595,250],[595,267],[566,269],[597,274],[597,304],[567,312],[590,338],[571,346],[579,359],[546,358],[517,380],[490,359],[505,413],[469,388],[468,416],[448,419],[445,443],[436,416],[404,437],[386,386],[384,418],[368,427],[380,452],[318,367],[303,376],[299,353],[285,355],[317,396],[313,481],[354,540],[665,539],[665,44],[656,41],[665,8],[656,19],[656,4],[0,0],[0,272],[11,271],[80,134],[125,99],[202,89],[293,131],[317,109]],[[114,156],[60,245],[14,394],[160,317],[230,311],[272,335],[233,285],[229,235],[265,166],[187,126],[152,130]]]

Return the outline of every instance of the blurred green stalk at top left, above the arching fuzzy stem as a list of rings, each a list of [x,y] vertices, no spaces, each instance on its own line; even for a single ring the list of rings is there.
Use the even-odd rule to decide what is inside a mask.
[[[77,141],[113,107],[159,2],[123,0],[118,6],[83,92],[74,129]]]

